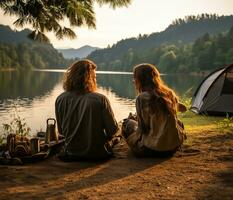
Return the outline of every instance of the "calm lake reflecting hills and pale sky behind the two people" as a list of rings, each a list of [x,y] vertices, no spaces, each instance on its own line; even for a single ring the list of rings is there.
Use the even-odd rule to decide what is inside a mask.
[[[63,91],[62,70],[0,72],[0,134],[17,112],[31,128],[31,134],[46,128],[46,119],[55,117],[54,102]],[[179,96],[191,96],[203,77],[164,75],[162,79]],[[118,121],[135,112],[135,89],[130,73],[97,72],[98,92],[111,102]]]

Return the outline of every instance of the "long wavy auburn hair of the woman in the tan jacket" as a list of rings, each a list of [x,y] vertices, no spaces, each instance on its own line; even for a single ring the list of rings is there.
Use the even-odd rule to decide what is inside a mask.
[[[150,92],[151,113],[160,114],[168,111],[173,115],[177,113],[178,97],[168,88],[160,78],[160,73],[152,64],[140,64],[134,67],[134,80],[136,90],[141,93]]]

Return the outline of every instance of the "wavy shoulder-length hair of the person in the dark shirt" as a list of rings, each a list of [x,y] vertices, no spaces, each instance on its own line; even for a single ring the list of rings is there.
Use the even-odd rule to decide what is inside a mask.
[[[97,87],[95,69],[95,63],[90,60],[74,62],[64,74],[64,90],[79,93],[94,92]]]

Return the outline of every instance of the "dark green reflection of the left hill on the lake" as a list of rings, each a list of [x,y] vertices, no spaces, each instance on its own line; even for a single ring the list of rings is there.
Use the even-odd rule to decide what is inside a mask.
[[[62,74],[33,71],[0,72],[0,101],[44,96],[61,79]]]

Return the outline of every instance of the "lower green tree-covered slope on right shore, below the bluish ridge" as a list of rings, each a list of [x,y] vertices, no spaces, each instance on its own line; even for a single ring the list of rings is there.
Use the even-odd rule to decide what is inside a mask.
[[[189,44],[162,44],[144,52],[131,47],[119,59],[104,62],[94,57],[93,60],[99,70],[132,71],[136,64],[149,62],[163,73],[211,71],[233,63],[233,27],[216,36],[206,33]]]

